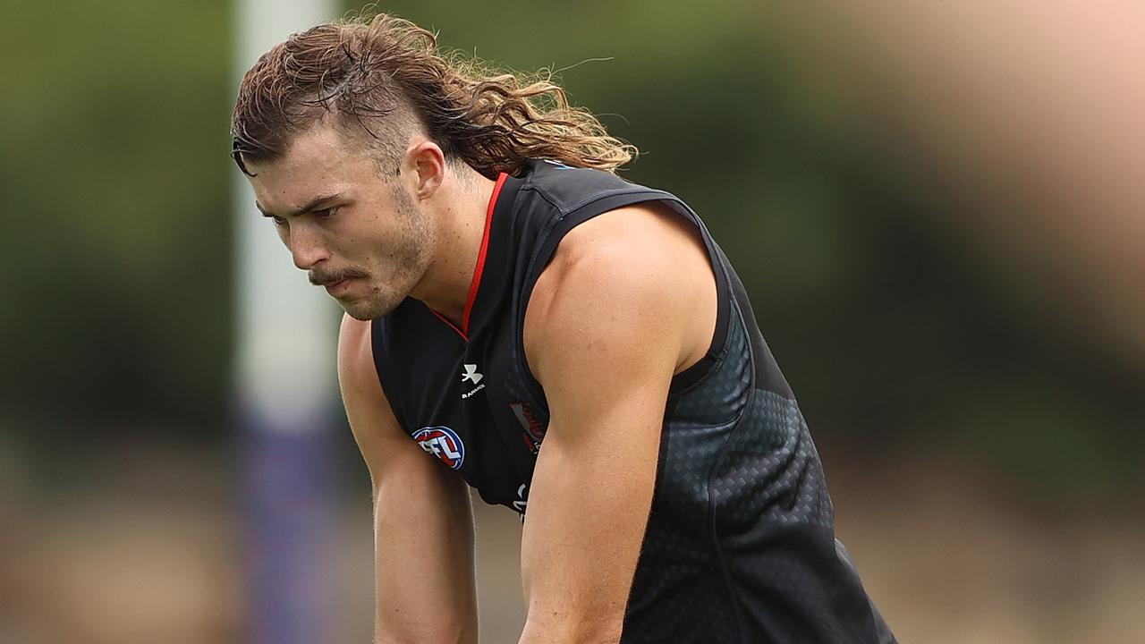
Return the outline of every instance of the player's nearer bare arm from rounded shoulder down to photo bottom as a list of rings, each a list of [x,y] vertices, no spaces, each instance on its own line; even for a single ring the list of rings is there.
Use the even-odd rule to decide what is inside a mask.
[[[706,256],[670,215],[606,213],[537,286],[526,351],[550,426],[522,541],[522,644],[618,642],[656,478],[672,375],[708,348]]]

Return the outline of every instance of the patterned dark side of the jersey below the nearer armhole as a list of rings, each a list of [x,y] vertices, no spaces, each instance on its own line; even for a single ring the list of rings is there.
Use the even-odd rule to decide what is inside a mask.
[[[874,642],[807,425],[753,388],[750,352],[736,311],[720,361],[670,406],[627,644]]]

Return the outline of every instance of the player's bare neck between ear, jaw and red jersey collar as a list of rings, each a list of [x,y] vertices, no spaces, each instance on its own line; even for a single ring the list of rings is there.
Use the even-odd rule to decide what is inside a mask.
[[[468,165],[450,172],[429,204],[437,222],[435,254],[425,278],[410,293],[458,329],[473,285],[477,254],[495,182]]]

